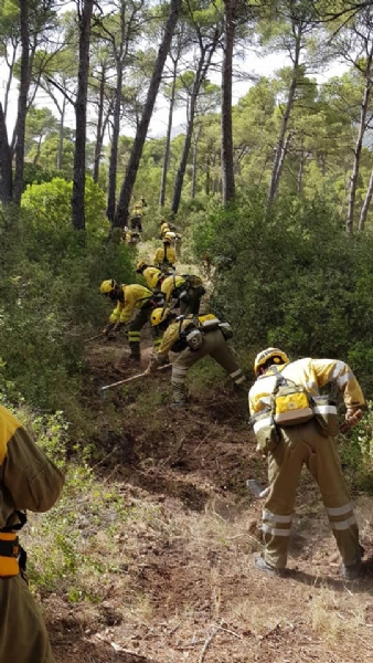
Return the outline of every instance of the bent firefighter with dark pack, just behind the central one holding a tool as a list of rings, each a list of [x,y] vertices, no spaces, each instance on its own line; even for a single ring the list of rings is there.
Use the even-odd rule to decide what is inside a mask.
[[[201,299],[206,291],[199,276],[172,274],[162,281],[161,292],[167,304],[170,305],[173,299],[174,305],[180,306],[181,315],[198,315]]]

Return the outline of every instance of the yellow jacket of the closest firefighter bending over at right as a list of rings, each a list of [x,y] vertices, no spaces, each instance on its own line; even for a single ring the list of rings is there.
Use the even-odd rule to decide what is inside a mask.
[[[339,359],[298,359],[277,366],[284,378],[303,387],[310,396],[319,396],[321,387],[334,383],[343,394],[347,408],[362,407],[365,399],[351,368]],[[251,415],[269,410],[270,396],[276,388],[276,371],[267,370],[248,392]]]

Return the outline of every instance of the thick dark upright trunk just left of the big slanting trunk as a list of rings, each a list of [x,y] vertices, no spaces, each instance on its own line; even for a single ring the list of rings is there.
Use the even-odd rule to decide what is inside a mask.
[[[85,230],[85,147],[87,127],[87,88],[89,74],[89,40],[90,18],[95,0],[84,0],[83,11],[79,15],[79,69],[78,85],[75,102],[75,154],[74,154],[74,181],[72,196],[73,228]]]

